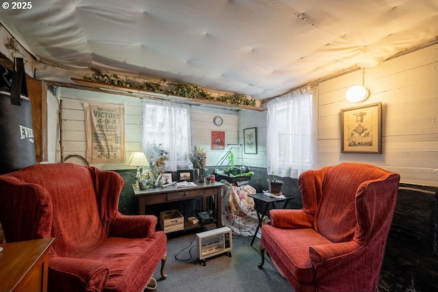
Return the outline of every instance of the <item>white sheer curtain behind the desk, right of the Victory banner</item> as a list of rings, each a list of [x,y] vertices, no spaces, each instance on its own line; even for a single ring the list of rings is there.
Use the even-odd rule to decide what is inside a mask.
[[[159,145],[168,152],[166,170],[188,169],[191,146],[190,105],[144,100],[142,148],[149,160],[159,156]]]

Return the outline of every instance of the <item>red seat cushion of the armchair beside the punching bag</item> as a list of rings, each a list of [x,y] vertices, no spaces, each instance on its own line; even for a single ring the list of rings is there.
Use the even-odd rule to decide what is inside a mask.
[[[145,239],[108,237],[88,259],[102,261],[110,270],[105,291],[142,291],[166,253],[166,235],[157,232]]]

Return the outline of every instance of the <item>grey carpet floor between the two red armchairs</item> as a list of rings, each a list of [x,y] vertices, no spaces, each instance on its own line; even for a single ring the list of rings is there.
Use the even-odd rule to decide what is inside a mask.
[[[168,238],[164,272],[166,280],[160,276],[158,265],[154,273],[157,291],[227,292],[227,291],[293,291],[289,283],[265,256],[263,269],[260,263],[259,242],[252,237],[233,235],[231,257],[227,254],[209,258],[203,266],[196,255],[196,233]]]

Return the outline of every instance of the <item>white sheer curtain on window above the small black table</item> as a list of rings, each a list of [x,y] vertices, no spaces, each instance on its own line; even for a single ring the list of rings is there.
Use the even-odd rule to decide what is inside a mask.
[[[267,103],[268,174],[298,178],[314,168],[313,94],[300,88]]]

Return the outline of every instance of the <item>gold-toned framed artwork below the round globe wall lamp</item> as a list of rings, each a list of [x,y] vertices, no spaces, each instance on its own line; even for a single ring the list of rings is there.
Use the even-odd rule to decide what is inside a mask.
[[[382,152],[382,103],[341,109],[342,153]]]

